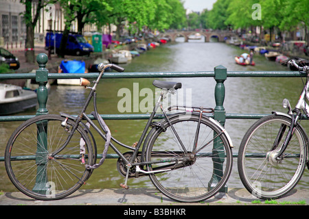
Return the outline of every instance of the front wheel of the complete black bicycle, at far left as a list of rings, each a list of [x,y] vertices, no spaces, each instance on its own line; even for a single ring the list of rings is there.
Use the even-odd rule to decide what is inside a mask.
[[[91,170],[81,164],[81,138],[85,142],[85,164],[93,165],[93,149],[82,127],[76,129],[65,149],[51,156],[65,142],[74,124],[68,119],[67,126],[62,127],[64,120],[58,115],[36,116],[20,125],[8,141],[5,149],[8,177],[27,196],[45,201],[64,198],[89,178]]]

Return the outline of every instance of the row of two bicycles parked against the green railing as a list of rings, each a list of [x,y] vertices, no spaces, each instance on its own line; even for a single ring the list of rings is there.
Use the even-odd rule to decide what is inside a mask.
[[[289,62],[308,79],[308,67],[299,66],[295,60]],[[81,79],[80,85],[89,90],[89,96],[78,116],[36,116],[12,133],[5,149],[5,168],[16,188],[40,200],[64,198],[78,190],[96,168],[104,168],[111,148],[119,156],[117,170],[124,177],[122,188],[129,188],[129,177],[148,176],[160,192],[175,201],[203,201],[222,191],[231,174],[233,143],[225,128],[207,116],[214,109],[185,105],[163,109],[165,95],[182,85],[155,80],[153,85],[161,89],[161,95],[137,144],[126,145],[113,137],[96,107],[95,91],[106,68],[124,70],[115,64],[100,64],[100,75],[93,84]],[[240,179],[258,198],[284,196],[297,185],[308,166],[308,136],[300,125],[302,113],[309,115],[305,101],[308,83],[294,110],[284,100],[288,113],[273,112],[261,118],[242,140]],[[99,125],[86,113],[92,99],[91,114]],[[164,115],[159,121],[154,119],[157,110]],[[102,155],[94,131],[105,142]],[[128,151],[122,153],[119,147]],[[98,153],[101,159],[97,162]],[[293,169],[293,174],[285,172],[286,168]]]

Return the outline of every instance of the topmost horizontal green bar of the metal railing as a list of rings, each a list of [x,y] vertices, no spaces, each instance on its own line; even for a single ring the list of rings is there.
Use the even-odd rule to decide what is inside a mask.
[[[99,73],[48,73],[48,79],[97,78]],[[297,71],[229,71],[227,77],[304,77]],[[198,72],[137,72],[137,73],[104,73],[104,78],[152,78],[152,77],[214,77],[214,71]],[[36,73],[1,74],[0,79],[35,79]]]

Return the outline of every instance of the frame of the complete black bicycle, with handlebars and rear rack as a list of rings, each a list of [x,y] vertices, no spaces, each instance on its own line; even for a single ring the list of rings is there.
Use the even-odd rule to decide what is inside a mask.
[[[109,64],[106,66],[112,66],[113,64]],[[107,153],[107,149],[108,146],[111,146],[111,149],[113,149],[113,151],[115,151],[115,153],[117,153],[117,155],[119,156],[119,159],[122,161],[122,165],[126,166],[126,180],[125,183],[121,183],[120,185],[122,186],[122,188],[126,188],[128,189],[128,185],[127,185],[127,181],[128,181],[128,176],[130,174],[130,168],[132,168],[133,166],[135,166],[135,171],[138,175],[139,172],[144,173],[144,174],[151,174],[151,173],[157,173],[157,172],[166,172],[166,171],[170,171],[170,170],[174,170],[177,168],[181,168],[183,167],[183,164],[185,164],[185,162],[190,158],[190,152],[187,151],[187,149],[185,148],[183,142],[181,141],[181,138],[179,137],[179,134],[176,132],[176,130],[174,129],[172,123],[170,122],[169,118],[173,118],[175,115],[181,115],[181,114],[172,114],[172,115],[168,115],[166,114],[165,111],[170,112],[171,110],[182,110],[182,111],[189,111],[190,113],[194,112],[194,113],[198,113],[198,127],[196,129],[196,134],[195,134],[195,140],[194,140],[194,150],[196,150],[196,145],[197,145],[197,140],[198,140],[198,133],[199,133],[199,125],[201,124],[201,120],[203,118],[203,113],[211,113],[214,112],[214,109],[212,108],[207,108],[207,107],[186,107],[186,106],[172,106],[172,107],[168,107],[167,110],[163,110],[163,105],[162,105],[162,100],[163,100],[163,96],[165,94],[167,94],[168,92],[172,92],[174,93],[173,88],[170,88],[170,90],[166,90],[165,88],[161,88],[161,95],[159,96],[159,99],[157,100],[157,102],[155,103],[155,107],[152,110],[152,113],[150,114],[150,118],[148,119],[148,122],[146,123],[146,126],[144,128],[144,131],[141,133],[141,136],[139,138],[139,141],[137,142],[136,146],[128,146],[126,144],[123,144],[122,142],[119,142],[118,140],[116,140],[115,138],[113,138],[111,136],[111,132],[108,129],[108,126],[104,123],[104,120],[100,117],[100,114],[98,114],[98,109],[97,109],[97,105],[96,105],[96,87],[98,86],[98,83],[104,73],[104,68],[106,68],[106,66],[104,66],[102,68],[102,72],[100,73],[98,79],[96,79],[96,81],[94,81],[94,86],[91,88],[89,87],[90,82],[85,79],[81,80],[81,85],[84,86],[84,84],[86,85],[85,88],[89,88],[91,89],[91,91],[89,92],[89,96],[87,97],[87,100],[84,103],[84,106],[82,107],[82,111],[80,112],[80,114],[78,115],[77,118],[73,118],[72,116],[68,115],[68,114],[60,114],[61,116],[65,117],[66,120],[67,119],[71,119],[74,122],[70,134],[65,142],[65,144],[63,144],[62,146],[60,146],[60,149],[58,149],[57,151],[55,151],[54,153],[52,153],[51,157],[54,157],[55,155],[57,155],[60,151],[62,151],[63,149],[65,149],[65,147],[67,146],[67,144],[69,143],[69,141],[71,140],[71,137],[73,136],[74,131],[76,131],[76,129],[78,129],[78,126],[81,125],[83,128],[87,129],[86,131],[90,132],[89,127],[93,127],[93,129],[95,129],[95,131],[97,131],[100,136],[106,141],[105,142],[105,147],[104,147],[104,151],[102,153],[102,158],[100,159],[100,163],[99,164],[93,164],[93,166],[89,166],[89,165],[85,165],[85,167],[89,170],[94,169],[94,168],[98,168],[99,166],[101,166],[104,162],[104,159],[106,157],[106,153]],[[100,66],[98,67],[98,69],[100,68]],[[119,69],[119,66],[115,67],[117,70],[117,68]],[[83,84],[84,83],[84,84]],[[87,107],[91,101],[91,99],[93,98],[93,106],[94,106],[94,112],[91,112],[91,114],[93,114],[93,116],[95,117],[95,119],[98,120],[99,126],[95,125],[95,123],[93,123],[93,120],[91,118],[89,118],[89,116],[85,113],[87,110]],[[152,122],[152,120],[155,118],[155,114],[157,112],[157,110],[159,109],[159,107],[161,108],[163,115],[165,117],[166,122],[168,123],[168,125],[170,125],[171,129],[172,129],[172,133],[174,134],[174,136],[176,137],[176,139],[178,140],[179,144],[181,145],[182,149],[183,149],[183,153],[180,157],[166,157],[164,158],[164,155],[162,156],[161,159],[159,160],[155,160],[155,161],[149,161],[146,162],[144,160],[143,155],[141,156],[140,161],[138,161],[138,156],[140,155],[139,153],[139,149],[141,149],[141,145],[144,143],[144,140],[146,139],[146,136],[148,134],[148,129],[150,127],[161,127],[160,123],[156,123],[156,122]],[[188,110],[190,109],[190,110]],[[172,116],[172,117],[170,117]],[[66,127],[66,120],[64,122],[62,122],[63,124],[61,124],[63,127]],[[82,120],[86,120],[88,124],[84,124],[82,123]],[[211,123],[214,123],[215,125],[217,125],[219,127],[219,129],[221,130],[220,133],[217,133],[216,136],[214,136],[213,140],[215,138],[217,138],[220,135],[225,135],[227,136],[227,140],[229,141],[229,144],[231,147],[233,147],[232,143],[231,143],[231,139],[229,138],[229,135],[227,134],[227,132],[225,131],[225,129],[223,127],[221,127],[221,125],[216,122],[215,120],[213,120],[212,118],[209,118],[209,120],[211,120]],[[161,127],[162,128],[162,127]],[[91,133],[91,132],[90,132]],[[92,136],[92,135],[91,135]],[[117,147],[111,142],[111,140],[113,140],[114,142],[116,142],[117,144],[119,144],[119,146],[122,146],[126,149],[130,149],[132,151],[132,155],[130,157],[130,159],[126,158],[126,153],[122,153],[119,151],[119,149],[117,149]],[[213,140],[209,140],[209,142],[207,142],[207,144],[205,144],[204,146],[201,147],[201,149],[199,149],[198,151],[194,151],[194,153],[198,153],[199,151],[201,151],[203,148],[205,148],[205,146],[207,146],[208,144],[210,144],[210,142],[212,142]],[[83,151],[83,150],[82,150]],[[211,155],[203,155],[203,156],[207,156],[207,157],[211,157]],[[82,154],[82,157],[84,157],[84,154]],[[174,164],[171,164],[174,163]],[[146,165],[150,165],[150,164],[165,164],[163,166],[160,166],[159,168],[154,168],[152,170],[144,170],[144,168],[139,168],[139,166],[146,166]],[[84,164],[83,159],[82,159],[82,164]]]

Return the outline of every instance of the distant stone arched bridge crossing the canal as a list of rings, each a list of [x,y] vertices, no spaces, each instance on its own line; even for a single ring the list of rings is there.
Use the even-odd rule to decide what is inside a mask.
[[[189,36],[194,34],[201,34],[201,36],[205,37],[205,42],[209,42],[211,37],[218,38],[218,42],[224,42],[225,38],[231,38],[232,36],[236,36],[236,34],[230,31],[168,31],[165,33],[161,33],[161,37],[170,38],[170,40],[175,41],[177,37],[183,36],[185,38],[185,42],[188,42]]]

